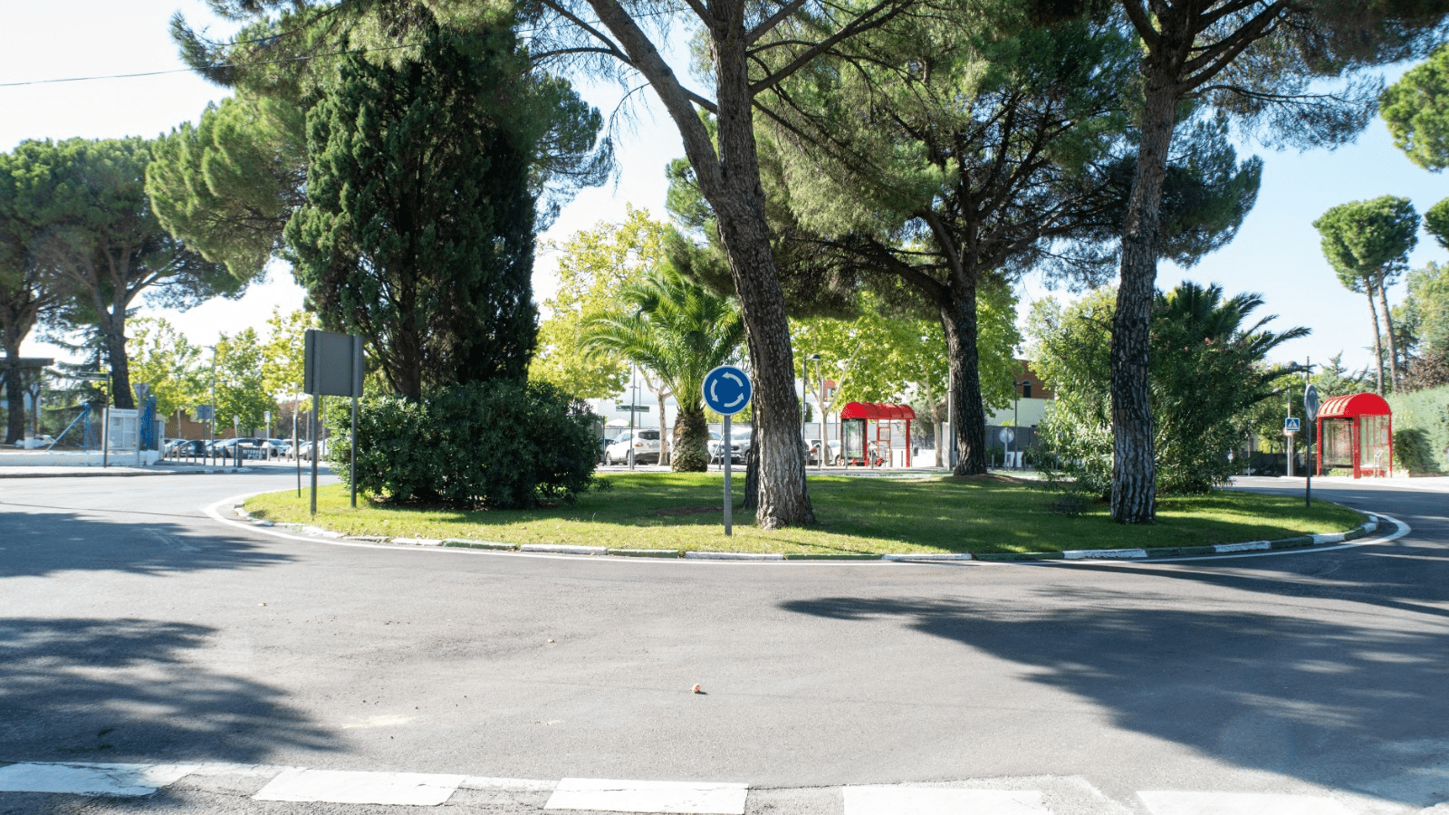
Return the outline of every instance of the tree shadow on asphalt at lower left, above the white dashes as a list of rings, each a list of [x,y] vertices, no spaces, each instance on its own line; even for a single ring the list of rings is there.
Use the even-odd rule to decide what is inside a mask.
[[[216,632],[135,618],[0,621],[0,760],[258,763],[336,748],[283,690],[187,657]]]

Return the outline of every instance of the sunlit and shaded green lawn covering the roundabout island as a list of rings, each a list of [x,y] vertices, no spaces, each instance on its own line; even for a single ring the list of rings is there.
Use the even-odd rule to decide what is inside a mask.
[[[526,512],[454,512],[371,505],[348,506],[342,486],[319,490],[309,516],[303,490],[246,500],[258,518],[314,524],[348,535],[462,538],[509,544],[575,544],[633,550],[696,550],[785,554],[1051,553],[1081,548],[1188,547],[1342,532],[1362,524],[1355,510],[1303,497],[1232,490],[1171,496],[1158,522],[1122,526],[1104,505],[1068,516],[1048,509],[1053,493],[1037,484],[993,479],[810,477],[819,524],[764,531],[753,513],[735,510],[733,537],[723,531],[719,473],[609,476],[613,490],[585,495],[574,506]],[[743,477],[735,479],[735,496]]]

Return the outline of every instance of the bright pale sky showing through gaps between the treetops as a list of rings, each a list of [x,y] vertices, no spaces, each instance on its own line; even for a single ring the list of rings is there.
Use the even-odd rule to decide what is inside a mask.
[[[168,33],[168,20],[177,10],[196,28],[212,26],[213,35],[233,30],[199,0],[7,4],[6,25],[0,26],[0,149],[10,151],[26,139],[154,138],[181,122],[194,122],[209,102],[227,91],[185,71],[177,58]],[[1390,80],[1404,68],[1391,68]],[[152,75],[87,78],[119,74]],[[54,81],[72,78],[81,81]],[[606,116],[613,113],[617,88],[578,87]],[[648,91],[640,99],[652,102]],[[639,109],[632,125],[614,132],[617,177],[580,193],[539,236],[533,277],[539,302],[556,286],[556,252],[549,249],[551,242],[562,242],[598,222],[623,220],[626,204],[665,218],[664,167],[684,149],[669,119],[652,110],[659,109]],[[1265,306],[1255,316],[1279,316],[1269,328],[1303,325],[1313,329],[1307,338],[1279,347],[1277,360],[1321,363],[1343,352],[1348,365],[1366,367],[1372,358],[1366,299],[1337,283],[1319,249],[1313,220],[1332,206],[1384,194],[1407,197],[1423,213],[1449,197],[1449,178],[1413,165],[1394,148],[1381,120],[1374,120],[1355,144],[1336,151],[1300,154],[1246,145],[1240,152],[1262,155],[1265,167],[1256,207],[1237,238],[1194,268],[1162,264],[1158,286],[1169,289],[1181,280],[1194,280],[1217,283],[1229,296],[1256,291],[1264,296]],[[1449,261],[1449,252],[1421,233],[1410,264],[1420,267],[1427,261]],[[1403,293],[1403,286],[1391,290],[1390,302],[1397,303]],[[1020,294],[1024,313],[1026,303],[1052,291],[1042,281],[1027,278]],[[1064,291],[1055,294],[1069,297]],[[262,326],[274,307],[293,310],[301,307],[301,302],[303,291],[290,271],[275,267],[265,283],[254,284],[241,300],[213,300],[187,312],[142,306],[141,316],[162,316],[193,342],[206,345],[220,334]],[[22,352],[64,355],[33,338]]]

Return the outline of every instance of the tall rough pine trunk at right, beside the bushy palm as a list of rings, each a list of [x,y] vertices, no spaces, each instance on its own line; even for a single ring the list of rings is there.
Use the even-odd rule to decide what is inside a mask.
[[[1122,226],[1122,281],[1111,319],[1111,516],[1151,524],[1156,503],[1148,339],[1158,277],[1162,181],[1177,119],[1175,86],[1148,77],[1142,142]]]

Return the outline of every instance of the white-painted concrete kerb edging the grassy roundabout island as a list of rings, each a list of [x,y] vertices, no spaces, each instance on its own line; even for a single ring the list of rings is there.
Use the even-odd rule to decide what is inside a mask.
[[[1408,532],[1408,525],[1403,521],[1375,515],[1372,512],[1365,512],[1369,518],[1366,522],[1355,526],[1346,532],[1332,532],[1324,535],[1294,535],[1291,538],[1278,538],[1272,541],[1248,541],[1242,544],[1213,544],[1204,547],[1162,547],[1162,548],[1129,548],[1129,550],[1065,550],[1059,553],[987,553],[987,554],[966,554],[966,553],[888,553],[888,554],[867,554],[867,553],[716,553],[716,551],[693,551],[693,550],[627,550],[627,548],[611,548],[611,547],[582,547],[582,545],[567,545],[567,544],[506,544],[498,541],[475,541],[467,538],[390,538],[387,535],[342,535],[341,532],[332,532],[329,529],[322,529],[319,526],[307,526],[303,524],[275,524],[272,521],[262,521],[254,518],[249,512],[242,509],[248,497],[265,495],[264,492],[246,493],[238,497],[223,499],[216,502],[203,510],[213,519],[223,524],[239,524],[254,529],[281,526],[288,531],[303,532],[307,539],[325,538],[329,542],[345,542],[349,545],[372,547],[372,548],[397,548],[398,545],[412,545],[432,550],[445,548],[471,548],[484,550],[494,553],[514,553],[514,554],[530,554],[533,557],[609,557],[609,558],[651,558],[651,560],[704,560],[704,561],[733,561],[733,563],[758,563],[758,561],[813,561],[813,563],[838,563],[838,561],[881,561],[881,563],[952,563],[952,561],[969,561],[978,560],[985,563],[1023,563],[1023,561],[1040,561],[1040,560],[1066,560],[1066,561],[1103,561],[1103,560],[1126,560],[1126,561],[1162,561],[1162,560],[1200,560],[1200,558],[1217,558],[1217,557],[1248,557],[1248,555],[1262,555],[1274,553],[1285,553],[1291,550],[1317,550],[1329,551],[1345,547],[1368,545],[1372,541],[1365,541],[1364,544],[1350,544],[1349,541],[1356,541],[1371,532],[1377,531],[1384,522],[1394,524],[1398,531],[1391,537],[1384,538],[1394,539],[1403,537]],[[230,503],[233,512],[239,521],[229,521],[214,512],[216,508]],[[277,537],[296,538],[296,535],[288,535],[284,532],[270,532]]]

